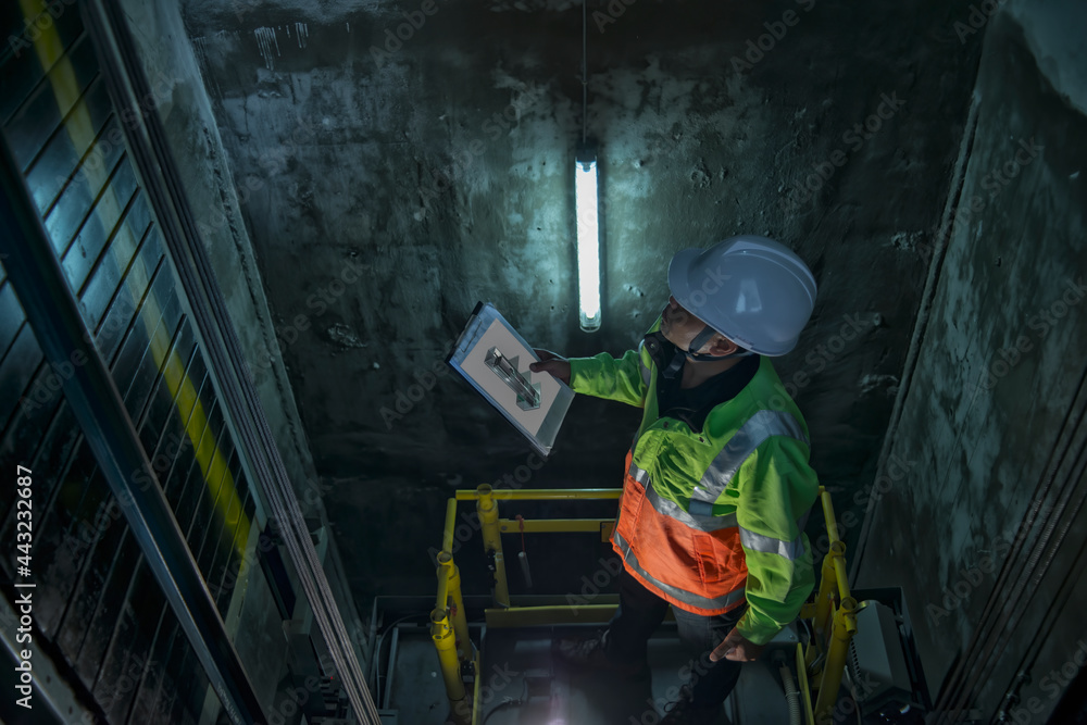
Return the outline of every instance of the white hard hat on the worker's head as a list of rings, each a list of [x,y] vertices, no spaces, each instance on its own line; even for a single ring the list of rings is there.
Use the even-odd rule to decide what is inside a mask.
[[[815,278],[803,260],[785,245],[749,235],[677,252],[669,287],[688,312],[763,355],[795,348],[815,304]]]

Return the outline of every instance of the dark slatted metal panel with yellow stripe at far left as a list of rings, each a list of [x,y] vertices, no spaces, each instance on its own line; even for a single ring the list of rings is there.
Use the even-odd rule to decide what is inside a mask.
[[[20,4],[0,10],[5,38],[23,28]],[[252,553],[255,501],[79,13],[63,12],[28,48],[9,43],[0,83],[7,141],[225,617],[222,585]],[[36,625],[110,722],[196,722],[208,678],[64,402],[64,371],[45,364],[2,274],[0,466],[37,474]],[[13,505],[14,488],[0,487],[9,579]]]

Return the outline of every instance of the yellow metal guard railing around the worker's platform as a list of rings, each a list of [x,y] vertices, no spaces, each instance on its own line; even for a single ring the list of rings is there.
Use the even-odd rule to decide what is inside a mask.
[[[552,518],[522,521],[500,518],[499,501],[589,501],[619,499],[617,488],[537,488],[537,489],[493,489],[484,484],[476,490],[461,489],[446,505],[446,526],[438,553],[438,592],[434,611],[430,613],[430,636],[438,652],[441,676],[446,684],[450,711],[458,725],[477,725],[479,722],[479,672],[480,653],[468,637],[467,618],[464,615],[464,600],[461,595],[461,576],[453,563],[453,530],[457,525],[457,504],[460,501],[475,501],[476,512],[483,534],[484,551],[493,557],[495,564],[495,608],[486,610],[490,626],[533,626],[539,624],[565,624],[603,622],[614,611],[613,604],[569,604],[551,607],[514,607],[510,602],[510,589],[505,577],[505,559],[502,554],[502,534],[542,533],[599,533],[608,540],[614,518]],[[838,536],[834,504],[830,495],[820,486],[820,502],[826,518],[826,530],[830,541],[829,551],[823,558],[822,577],[814,602],[800,610],[799,618],[812,620],[815,636],[805,648],[797,645],[796,665],[798,685],[802,693],[801,702],[807,725],[815,725],[830,714],[838,699],[841,676],[846,666],[849,641],[857,634],[857,600],[850,595],[846,579],[846,545]],[[466,701],[462,670],[472,663],[475,667],[475,683],[471,708]],[[812,691],[817,691],[814,704]]]

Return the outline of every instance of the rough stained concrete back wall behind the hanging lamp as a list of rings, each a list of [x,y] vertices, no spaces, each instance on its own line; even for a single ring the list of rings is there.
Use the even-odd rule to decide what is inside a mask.
[[[429,592],[448,493],[529,453],[451,375],[405,398],[477,301],[535,345],[621,353],[666,300],[672,254],[742,232],[815,273],[812,323],[778,371],[849,508],[874,473],[974,83],[979,40],[952,29],[966,3],[590,0],[594,335],[577,329],[573,247],[580,7],[420,7],[183,4],[355,592]],[[524,485],[617,486],[636,421],[576,400]]]

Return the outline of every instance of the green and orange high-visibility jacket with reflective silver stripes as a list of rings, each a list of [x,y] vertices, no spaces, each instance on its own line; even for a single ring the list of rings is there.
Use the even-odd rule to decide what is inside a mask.
[[[815,584],[803,534],[819,493],[807,424],[767,358],[757,370],[751,361],[750,380],[730,399],[710,401],[704,420],[662,416],[661,342],[649,335],[619,360],[570,361],[575,392],[645,410],[612,545],[628,573],[675,607],[719,614],[746,600],[737,629],[765,643]]]

